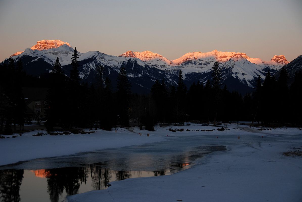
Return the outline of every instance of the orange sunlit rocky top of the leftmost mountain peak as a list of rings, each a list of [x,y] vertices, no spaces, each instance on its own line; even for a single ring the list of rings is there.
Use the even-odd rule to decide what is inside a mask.
[[[69,43],[61,41],[61,40],[41,40],[41,41],[37,41],[37,44],[32,46],[30,49],[31,50],[48,50],[48,49],[52,49],[52,48],[58,48],[58,47],[62,46],[63,44],[66,44],[66,46],[69,46],[69,48],[72,48]],[[64,48],[66,48],[66,47],[64,47]],[[23,52],[24,51],[18,51],[17,53],[14,53],[11,56],[20,55]]]

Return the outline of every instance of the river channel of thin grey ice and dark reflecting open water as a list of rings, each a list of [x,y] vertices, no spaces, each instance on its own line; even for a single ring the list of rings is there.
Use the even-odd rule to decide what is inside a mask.
[[[209,152],[226,150],[215,141],[204,145],[204,139],[171,137],[168,141],[4,165],[0,167],[1,199],[62,201],[67,195],[105,189],[111,181],[170,175],[190,168],[195,159]]]

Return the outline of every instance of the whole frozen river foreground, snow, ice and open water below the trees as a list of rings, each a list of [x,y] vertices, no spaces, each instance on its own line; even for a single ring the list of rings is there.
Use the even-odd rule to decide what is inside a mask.
[[[299,128],[188,128],[1,139],[1,200],[301,201]]]

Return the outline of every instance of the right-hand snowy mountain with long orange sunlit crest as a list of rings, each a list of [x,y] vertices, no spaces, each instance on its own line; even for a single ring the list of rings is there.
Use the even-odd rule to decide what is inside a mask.
[[[150,56],[144,57],[145,53]],[[128,51],[120,56],[137,57],[142,59],[142,61],[148,61],[154,67],[164,69],[168,75],[177,75],[179,69],[182,69],[187,85],[191,85],[194,81],[206,82],[211,79],[210,71],[217,61],[223,70],[224,84],[227,85],[229,90],[239,90],[242,93],[252,90],[258,75],[264,79],[266,72],[275,73],[284,64],[288,63],[283,55],[274,56],[271,61],[263,61],[259,58],[251,58],[245,53],[220,52],[217,50],[207,53],[186,53],[172,61],[165,60],[166,58],[150,51],[141,53]]]

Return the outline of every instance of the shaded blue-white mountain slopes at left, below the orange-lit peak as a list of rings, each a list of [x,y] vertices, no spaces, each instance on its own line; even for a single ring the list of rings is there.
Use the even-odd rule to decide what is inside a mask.
[[[66,75],[69,75],[71,69],[70,59],[74,50],[71,46],[63,44],[58,48],[47,50],[26,49],[23,53],[11,56],[18,62],[21,60],[27,74],[41,75],[50,72],[57,57],[62,65]],[[117,74],[121,67],[126,68],[128,79],[132,83],[133,92],[149,93],[151,86],[156,79],[165,79],[170,85],[176,85],[176,76],[167,75],[163,70],[149,66],[138,58],[111,56],[98,51],[87,53],[78,52],[79,75],[84,82],[93,82],[97,75],[96,67],[104,66],[104,78],[111,79],[112,86],[116,86]],[[1,64],[8,63],[8,59]]]

